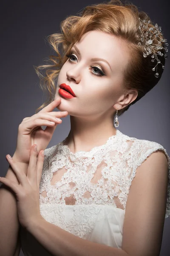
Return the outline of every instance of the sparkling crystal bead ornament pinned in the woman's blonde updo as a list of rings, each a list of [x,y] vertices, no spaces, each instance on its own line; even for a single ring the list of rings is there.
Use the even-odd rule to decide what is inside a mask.
[[[155,77],[158,78],[159,77],[159,73],[157,72],[157,66],[158,64],[162,64],[161,61],[159,60],[158,56],[157,55],[160,55],[160,56],[163,56],[164,55],[164,58],[166,59],[167,58],[167,54],[166,52],[168,51],[168,48],[167,47],[162,47],[160,44],[161,42],[165,42],[165,45],[168,46],[169,44],[166,43],[167,42],[167,39],[163,39],[163,38],[160,38],[159,35],[163,35],[161,33],[161,26],[158,26],[158,24],[156,23],[155,24],[155,28],[154,27],[148,27],[148,24],[150,23],[150,20],[147,21],[147,16],[145,17],[144,20],[142,20],[141,18],[139,18],[139,22],[140,22],[140,25],[139,25],[139,29],[142,33],[141,35],[141,38],[140,38],[140,41],[144,42],[144,47],[142,49],[143,51],[143,56],[144,58],[147,57],[147,55],[149,54],[152,54],[152,62],[155,61],[155,59],[157,60],[157,64],[155,67],[152,68],[153,71],[155,71],[155,68],[156,68],[156,74],[155,74]],[[156,35],[155,35],[156,34]],[[154,36],[155,35],[155,36]],[[151,39],[152,37],[154,37],[153,39]],[[157,40],[157,38],[160,39]],[[157,44],[153,44],[153,41],[154,40],[157,40]],[[143,44],[141,44],[141,42],[138,43],[140,46],[142,46]],[[158,51],[159,49],[164,49],[164,54],[160,51]],[[144,52],[145,51],[145,52]],[[164,69],[164,65],[162,64],[162,68]]]

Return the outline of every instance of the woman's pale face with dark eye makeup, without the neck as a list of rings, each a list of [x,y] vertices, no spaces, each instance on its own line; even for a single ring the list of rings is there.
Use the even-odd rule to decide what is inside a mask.
[[[71,116],[93,120],[111,116],[119,105],[117,101],[125,96],[123,70],[128,58],[125,43],[114,35],[100,31],[84,34],[74,44],[70,57],[60,70],[55,99],[60,97],[61,102],[57,108],[68,111]],[[62,83],[69,85],[76,97],[60,96],[58,90]]]

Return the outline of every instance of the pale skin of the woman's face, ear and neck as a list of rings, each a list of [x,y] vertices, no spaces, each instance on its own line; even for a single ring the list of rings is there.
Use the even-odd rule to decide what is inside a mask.
[[[138,95],[136,90],[123,91],[123,70],[129,59],[124,41],[101,31],[90,31],[75,45],[81,55],[72,48],[74,54],[60,70],[55,95],[55,99],[61,97],[57,108],[70,115],[71,130],[65,144],[73,153],[105,144],[108,137],[116,134],[113,114]],[[109,64],[91,58],[103,58]],[[99,76],[99,71],[91,69],[91,65],[99,67],[105,76]],[[68,84],[77,97],[60,96],[58,90],[62,83]]]

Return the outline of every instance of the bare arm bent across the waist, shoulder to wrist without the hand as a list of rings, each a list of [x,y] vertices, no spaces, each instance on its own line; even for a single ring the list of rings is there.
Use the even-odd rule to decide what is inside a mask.
[[[167,198],[167,158],[155,152],[138,167],[128,195],[122,249],[94,243],[45,221],[30,232],[53,256],[159,256]]]

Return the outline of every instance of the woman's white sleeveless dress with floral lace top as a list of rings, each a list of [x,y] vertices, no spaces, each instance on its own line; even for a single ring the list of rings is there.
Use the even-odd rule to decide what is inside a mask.
[[[137,167],[157,150],[169,163],[165,218],[170,216],[170,157],[162,145],[119,130],[91,151],[73,154],[64,141],[45,149],[40,212],[46,221],[82,239],[121,248],[130,185]],[[20,239],[25,256],[51,255],[22,227]]]

